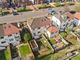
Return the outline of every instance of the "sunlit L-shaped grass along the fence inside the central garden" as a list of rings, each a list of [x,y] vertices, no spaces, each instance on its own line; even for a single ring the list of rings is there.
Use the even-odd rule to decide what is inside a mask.
[[[53,48],[51,47],[51,45],[49,44],[48,40],[45,38],[44,35],[42,35],[42,38],[40,38],[40,42],[44,46],[44,48],[42,49],[44,49],[45,51],[41,52],[38,57],[43,57],[45,55],[53,53]]]

